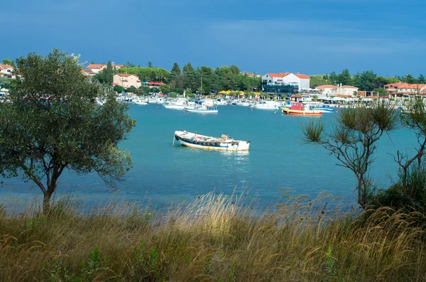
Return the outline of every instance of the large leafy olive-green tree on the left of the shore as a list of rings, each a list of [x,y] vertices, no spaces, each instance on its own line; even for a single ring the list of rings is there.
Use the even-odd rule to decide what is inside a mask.
[[[54,49],[16,60],[18,79],[0,103],[0,171],[23,175],[43,192],[43,212],[64,170],[97,173],[108,185],[129,168],[118,143],[135,126],[113,94],[82,73],[79,58]],[[95,99],[107,100],[103,106]]]

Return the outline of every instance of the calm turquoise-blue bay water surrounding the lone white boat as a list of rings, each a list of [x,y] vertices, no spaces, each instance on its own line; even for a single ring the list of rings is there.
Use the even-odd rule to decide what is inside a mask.
[[[202,115],[164,109],[161,105],[131,105],[129,114],[137,125],[129,139],[121,143],[131,152],[133,169],[115,190],[107,188],[96,175],[64,173],[58,196],[72,195],[89,205],[106,202],[112,197],[131,202],[190,202],[198,195],[216,191],[231,194],[250,190],[249,195],[263,205],[275,201],[280,188],[294,190],[293,195],[316,197],[320,192],[342,196],[340,202],[354,200],[354,176],[336,166],[336,159],[322,147],[300,141],[300,125],[308,117],[284,116],[270,110],[222,106],[219,114]],[[335,114],[324,114],[332,121]],[[175,130],[197,131],[234,139],[250,140],[249,152],[202,151],[173,143]],[[397,131],[383,136],[376,153],[371,176],[376,184],[388,187],[395,178],[395,163],[388,153],[415,146],[415,136]],[[1,179],[3,202],[33,200],[40,195],[33,183],[21,178]]]

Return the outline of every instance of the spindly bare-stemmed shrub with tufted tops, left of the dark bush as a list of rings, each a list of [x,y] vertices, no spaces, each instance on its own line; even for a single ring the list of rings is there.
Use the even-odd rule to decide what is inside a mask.
[[[302,138],[308,143],[323,146],[337,158],[338,166],[352,170],[357,180],[355,190],[358,192],[358,203],[365,208],[373,188],[368,172],[374,160],[377,141],[383,133],[398,126],[399,119],[391,104],[378,101],[369,108],[342,109],[330,126],[323,121],[311,120],[302,126]]]

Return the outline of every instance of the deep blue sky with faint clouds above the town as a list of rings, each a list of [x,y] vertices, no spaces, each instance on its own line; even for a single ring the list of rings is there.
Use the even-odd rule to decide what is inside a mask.
[[[21,0],[0,5],[0,60],[236,65],[307,75],[426,75],[425,0]]]

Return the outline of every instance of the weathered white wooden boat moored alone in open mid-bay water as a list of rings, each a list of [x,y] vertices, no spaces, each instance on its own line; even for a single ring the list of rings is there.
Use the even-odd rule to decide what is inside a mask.
[[[227,134],[220,137],[205,136],[187,131],[175,131],[173,145],[180,141],[182,146],[215,151],[249,151],[250,141],[234,140]]]

